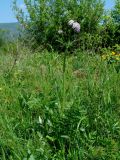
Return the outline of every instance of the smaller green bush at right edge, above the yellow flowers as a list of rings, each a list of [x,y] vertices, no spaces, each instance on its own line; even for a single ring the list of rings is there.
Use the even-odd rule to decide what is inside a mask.
[[[103,18],[102,39],[104,47],[120,44],[120,1],[116,0],[115,7]]]

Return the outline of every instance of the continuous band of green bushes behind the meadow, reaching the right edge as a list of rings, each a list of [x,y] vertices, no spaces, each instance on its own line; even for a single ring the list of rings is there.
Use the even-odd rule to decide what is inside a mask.
[[[16,17],[26,31],[27,39],[29,36],[35,44],[37,42],[38,45],[63,50],[67,43],[72,42],[71,50],[78,47],[83,50],[99,50],[100,47],[112,47],[120,43],[118,0],[114,9],[107,14],[102,0],[24,0],[25,10],[17,7],[16,0],[13,4]],[[79,35],[67,25],[70,19],[80,23]],[[59,30],[63,30],[62,35],[58,34]]]

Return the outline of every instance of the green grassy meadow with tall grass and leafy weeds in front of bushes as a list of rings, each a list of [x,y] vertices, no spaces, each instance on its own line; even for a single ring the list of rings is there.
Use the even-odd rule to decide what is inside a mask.
[[[99,56],[0,57],[1,159],[120,159],[120,75]],[[28,53],[27,53],[28,52]],[[63,103],[64,99],[64,103]]]

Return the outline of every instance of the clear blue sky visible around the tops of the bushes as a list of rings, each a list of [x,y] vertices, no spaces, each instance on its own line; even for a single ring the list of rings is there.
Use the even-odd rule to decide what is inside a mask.
[[[13,0],[0,0],[0,23],[17,22],[12,11]],[[19,7],[24,9],[24,0],[17,0]],[[114,6],[114,0],[106,0],[105,8],[111,9]]]

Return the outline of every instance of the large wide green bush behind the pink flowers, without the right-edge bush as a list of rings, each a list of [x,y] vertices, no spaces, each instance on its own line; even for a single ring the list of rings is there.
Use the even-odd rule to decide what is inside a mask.
[[[39,45],[45,47],[52,45],[56,50],[64,50],[65,44],[74,41],[70,49],[74,50],[80,47],[80,41],[84,41],[84,33],[92,34],[91,36],[98,34],[104,6],[102,0],[70,0],[68,2],[64,0],[24,0],[24,3],[26,11],[18,8],[16,0],[14,1],[13,8],[16,17],[30,36],[29,39],[35,40]],[[68,21],[70,19],[80,23],[80,35],[77,36],[69,28]],[[58,34],[60,29],[63,30],[62,35]],[[60,41],[63,43],[61,44]],[[87,39],[86,43],[89,41],[90,39]],[[94,41],[94,43],[99,42]],[[93,42],[90,45],[93,45]]]

